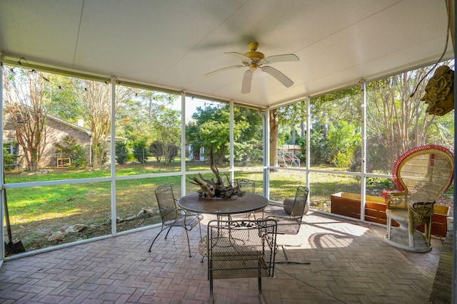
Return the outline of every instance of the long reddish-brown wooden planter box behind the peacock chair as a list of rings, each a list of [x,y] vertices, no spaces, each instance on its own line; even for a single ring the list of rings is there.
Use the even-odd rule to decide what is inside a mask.
[[[360,196],[360,194],[348,192],[331,194],[331,213],[360,219]],[[365,221],[387,224],[386,201],[383,197],[367,195],[365,198]],[[446,237],[449,208],[448,206],[434,205],[433,209],[435,214],[432,217],[431,234]],[[392,221],[392,225],[398,226],[396,221]],[[417,229],[423,232],[423,225],[418,226]]]

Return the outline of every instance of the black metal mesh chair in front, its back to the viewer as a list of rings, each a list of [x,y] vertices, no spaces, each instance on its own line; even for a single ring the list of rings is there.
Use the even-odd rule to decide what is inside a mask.
[[[209,303],[214,303],[213,281],[224,278],[272,277],[276,254],[276,221],[210,221],[208,224]]]

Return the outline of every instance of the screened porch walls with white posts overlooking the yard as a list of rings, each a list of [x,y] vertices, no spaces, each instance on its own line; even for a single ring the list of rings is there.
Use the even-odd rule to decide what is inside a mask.
[[[195,192],[193,177],[214,176],[211,147],[227,182],[253,179],[273,201],[298,185],[311,189],[314,211],[331,212],[338,192],[380,196],[393,189],[391,167],[406,150],[453,150],[453,115],[426,114],[426,82],[408,97],[430,69],[258,109],[4,65],[4,188],[14,239],[33,253],[158,224],[154,189]]]

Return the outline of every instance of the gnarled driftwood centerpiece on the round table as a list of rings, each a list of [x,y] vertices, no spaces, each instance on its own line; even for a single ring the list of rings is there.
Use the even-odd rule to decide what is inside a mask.
[[[209,149],[209,163],[211,171],[216,175],[216,182],[214,182],[214,179],[204,179],[200,173],[199,177],[201,180],[196,177],[191,178],[192,182],[190,183],[196,184],[201,188],[197,191],[200,197],[204,197],[205,199],[214,199],[216,197],[219,197],[220,199],[230,199],[232,196],[243,196],[246,194],[245,191],[241,191],[238,184],[236,184],[235,187],[233,187],[231,182],[229,182],[229,186],[224,185],[221,174],[219,174],[219,170],[214,164],[213,146]],[[227,180],[229,180],[228,177]]]

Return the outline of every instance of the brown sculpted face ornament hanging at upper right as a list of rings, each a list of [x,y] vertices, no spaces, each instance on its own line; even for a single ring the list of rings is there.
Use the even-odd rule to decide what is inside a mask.
[[[454,71],[447,65],[437,68],[428,80],[421,101],[428,104],[426,112],[430,115],[443,116],[451,112],[454,108]]]

